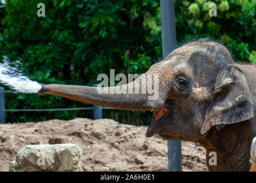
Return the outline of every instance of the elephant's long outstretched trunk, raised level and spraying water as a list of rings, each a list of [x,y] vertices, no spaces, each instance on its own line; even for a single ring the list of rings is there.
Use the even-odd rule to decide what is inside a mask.
[[[124,110],[159,110],[164,100],[159,98],[158,77],[143,74],[133,82],[112,87],[77,85],[42,85],[38,94],[53,94],[71,100]]]

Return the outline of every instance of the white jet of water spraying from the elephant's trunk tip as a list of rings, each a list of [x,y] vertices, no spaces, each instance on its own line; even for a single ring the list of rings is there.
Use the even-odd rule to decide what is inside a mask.
[[[15,61],[14,66],[10,64],[10,59],[3,56],[3,62],[0,63],[0,83],[9,86],[17,93],[38,93],[42,86],[22,74],[22,70],[18,68],[20,62]]]

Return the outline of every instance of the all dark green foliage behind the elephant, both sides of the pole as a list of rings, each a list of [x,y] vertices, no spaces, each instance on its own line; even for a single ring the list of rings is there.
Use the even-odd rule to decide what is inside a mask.
[[[41,83],[92,86],[97,75],[144,73],[162,58],[159,0],[5,0],[0,8],[0,55],[21,58],[29,77]],[[37,3],[46,16],[37,17]],[[210,17],[208,5],[218,6]],[[1,5],[0,5],[1,6]],[[176,37],[213,37],[238,62],[256,63],[256,0],[175,1]],[[5,87],[7,90],[8,88]],[[6,109],[91,106],[56,96],[6,93]],[[7,122],[92,118],[92,110],[8,112]],[[104,118],[148,125],[151,112],[103,110]]]

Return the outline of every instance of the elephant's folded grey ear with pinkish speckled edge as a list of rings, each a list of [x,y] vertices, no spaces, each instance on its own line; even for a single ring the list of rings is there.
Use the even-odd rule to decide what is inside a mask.
[[[208,106],[201,134],[212,126],[234,124],[254,117],[254,102],[239,66],[228,65],[216,78],[215,100]]]

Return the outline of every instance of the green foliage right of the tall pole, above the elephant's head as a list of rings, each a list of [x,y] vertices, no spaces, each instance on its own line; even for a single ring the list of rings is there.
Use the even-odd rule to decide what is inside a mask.
[[[211,3],[217,5],[217,17],[208,14]],[[255,13],[255,0],[175,1],[177,40],[213,37],[224,42],[238,62],[253,62]]]

